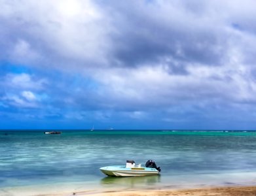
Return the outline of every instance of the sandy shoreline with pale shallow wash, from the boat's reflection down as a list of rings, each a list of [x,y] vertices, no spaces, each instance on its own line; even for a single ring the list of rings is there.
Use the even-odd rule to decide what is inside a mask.
[[[147,178],[94,178],[89,181],[52,182],[3,186],[1,196],[141,196],[141,195],[256,195],[256,172],[236,172]],[[161,178],[159,178],[161,177]],[[14,184],[14,182],[12,182]],[[16,182],[18,184],[18,182]]]

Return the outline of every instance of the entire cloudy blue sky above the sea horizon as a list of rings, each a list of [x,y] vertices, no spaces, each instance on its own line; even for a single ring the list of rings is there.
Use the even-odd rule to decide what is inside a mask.
[[[256,129],[256,1],[0,0],[0,129]]]

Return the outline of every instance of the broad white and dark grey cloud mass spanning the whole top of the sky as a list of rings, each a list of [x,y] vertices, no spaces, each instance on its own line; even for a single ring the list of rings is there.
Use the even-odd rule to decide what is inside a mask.
[[[23,56],[27,64],[85,73],[162,61],[174,73],[186,73],[187,62],[221,66],[230,48],[246,50],[240,44],[255,42],[234,28],[253,31],[243,20],[254,15],[248,2],[244,15],[237,1],[2,1],[3,51],[10,61]]]

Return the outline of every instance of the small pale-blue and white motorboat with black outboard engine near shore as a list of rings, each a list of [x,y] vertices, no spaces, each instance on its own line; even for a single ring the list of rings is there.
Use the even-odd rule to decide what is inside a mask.
[[[156,167],[155,161],[149,160],[145,167],[135,165],[134,161],[126,161],[126,165],[101,167],[100,171],[107,176],[150,176],[159,174],[161,169]]]

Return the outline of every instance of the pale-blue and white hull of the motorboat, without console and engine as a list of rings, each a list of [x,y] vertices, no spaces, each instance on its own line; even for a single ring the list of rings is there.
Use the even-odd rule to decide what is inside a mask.
[[[127,168],[125,166],[115,165],[108,167],[101,167],[100,171],[107,176],[151,176],[159,174],[155,168],[149,167],[132,167]]]

